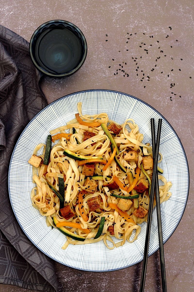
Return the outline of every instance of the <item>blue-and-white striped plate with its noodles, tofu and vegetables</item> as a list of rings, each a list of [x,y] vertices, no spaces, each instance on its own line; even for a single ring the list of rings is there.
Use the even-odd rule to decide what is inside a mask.
[[[151,118],[163,119],[158,177],[163,241],[168,240],[188,197],[188,165],[177,134],[141,100],[91,90],[45,107],[13,151],[10,201],[35,246],[62,264],[89,271],[143,259],[153,172]],[[149,255],[158,247],[154,208]]]

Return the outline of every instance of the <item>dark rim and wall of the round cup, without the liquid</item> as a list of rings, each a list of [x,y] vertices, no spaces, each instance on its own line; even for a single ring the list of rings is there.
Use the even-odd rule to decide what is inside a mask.
[[[42,69],[42,67],[40,65],[38,65],[38,63],[35,61],[34,57],[33,57],[33,54],[32,54],[32,43],[33,43],[33,40],[36,36],[36,34],[38,34],[38,32],[40,31],[40,29],[42,29],[44,26],[48,25],[48,24],[54,24],[54,23],[65,23],[65,24],[68,24],[70,25],[71,27],[73,27],[74,29],[76,29],[76,31],[81,35],[81,38],[83,39],[83,42],[84,42],[84,55],[83,55],[83,58],[81,60],[81,62],[79,63],[79,65],[74,68],[72,71],[68,72],[68,73],[62,73],[62,74],[52,74],[52,73],[49,73],[47,72],[46,70]],[[73,73],[75,73],[77,70],[80,69],[80,67],[83,65],[84,61],[86,60],[86,55],[87,55],[87,51],[88,51],[88,46],[87,46],[87,42],[86,42],[86,38],[83,34],[83,32],[81,31],[81,29],[79,27],[77,27],[75,24],[73,24],[72,22],[69,22],[69,21],[66,21],[66,20],[60,20],[60,19],[56,19],[56,20],[49,20],[43,24],[41,24],[36,30],[35,32],[33,33],[33,35],[31,36],[31,40],[30,40],[30,44],[29,44],[29,53],[30,53],[30,57],[31,57],[31,60],[33,62],[33,64],[35,65],[35,67],[40,71],[42,72],[43,74],[49,76],[49,77],[67,77],[67,76],[70,76],[72,75]]]

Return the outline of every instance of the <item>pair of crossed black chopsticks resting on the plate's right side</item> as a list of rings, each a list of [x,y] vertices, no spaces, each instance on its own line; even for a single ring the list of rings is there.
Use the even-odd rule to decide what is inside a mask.
[[[145,286],[147,257],[148,257],[148,249],[149,249],[149,238],[150,238],[152,211],[153,211],[153,203],[154,203],[154,191],[156,193],[156,211],[157,211],[158,234],[159,234],[159,251],[160,251],[162,291],[167,292],[165,261],[164,261],[164,247],[163,247],[163,237],[162,237],[162,222],[161,222],[161,212],[160,212],[158,173],[157,173],[161,126],[162,126],[162,119],[159,119],[158,120],[158,130],[157,130],[157,139],[155,140],[154,119],[151,119],[152,152],[153,152],[153,160],[154,160],[154,169],[153,169],[153,174],[152,174],[152,185],[151,185],[150,200],[149,200],[149,210],[148,210],[148,215],[147,215],[147,229],[146,229],[146,235],[145,235],[145,248],[144,248],[143,265],[142,265],[140,290],[139,290],[140,292],[144,291],[144,286]]]

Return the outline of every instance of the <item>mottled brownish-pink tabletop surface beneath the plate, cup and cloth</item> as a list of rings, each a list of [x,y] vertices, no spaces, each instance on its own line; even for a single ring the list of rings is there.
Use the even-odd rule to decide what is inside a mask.
[[[169,292],[191,292],[194,288],[193,11],[193,0],[1,0],[0,3],[1,24],[28,41],[39,25],[53,19],[73,22],[86,36],[88,55],[81,69],[66,79],[42,81],[48,102],[86,89],[122,91],[155,107],[179,135],[190,165],[191,184],[183,218],[164,245]],[[129,77],[125,72],[124,77],[121,70],[116,71],[121,68],[119,64]],[[171,83],[175,83],[172,88]],[[148,259],[145,291],[161,291],[158,269],[156,252]],[[56,270],[61,292],[139,291],[141,263],[105,273],[78,271],[58,263]],[[0,291],[29,290],[1,285]]]

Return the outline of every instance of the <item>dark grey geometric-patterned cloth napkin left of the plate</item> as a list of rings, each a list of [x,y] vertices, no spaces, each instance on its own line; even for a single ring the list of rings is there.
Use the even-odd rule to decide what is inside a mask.
[[[54,262],[20,228],[8,194],[13,148],[28,122],[47,100],[29,43],[0,25],[0,283],[38,291],[58,291]]]

